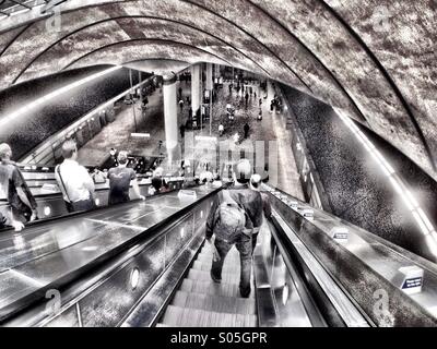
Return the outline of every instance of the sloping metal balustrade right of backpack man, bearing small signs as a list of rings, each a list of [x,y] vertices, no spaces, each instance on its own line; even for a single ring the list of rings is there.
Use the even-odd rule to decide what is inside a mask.
[[[371,323],[437,326],[437,265],[277,189],[264,189],[279,220]]]

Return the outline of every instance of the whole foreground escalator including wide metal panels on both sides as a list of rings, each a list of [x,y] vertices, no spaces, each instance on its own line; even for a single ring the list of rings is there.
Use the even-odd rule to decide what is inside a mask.
[[[9,265],[3,263],[1,325],[375,326],[381,324],[368,310],[373,304],[366,296],[382,287],[391,294],[390,311],[398,321],[392,325],[413,320],[413,324],[434,324],[420,303],[423,296],[432,296],[432,289],[426,289],[422,298],[404,294],[383,278],[374,255],[371,260],[366,260],[366,254],[361,260],[351,255],[365,248],[363,244],[357,250],[354,233],[363,239],[373,239],[370,236],[323,212],[312,209],[311,216],[308,204],[295,205],[292,196],[265,190],[272,198],[273,217],[262,226],[253,251],[249,298],[239,296],[240,266],[235,246],[226,256],[221,284],[210,277],[212,253],[204,241],[205,219],[220,189],[201,186],[191,191],[197,193],[192,197],[168,193],[154,198],[155,203],[149,205],[156,208],[150,215],[144,210],[146,201],[64,218],[59,229],[73,227],[80,219],[92,219],[92,225],[101,228],[95,237],[60,250],[45,250],[38,255],[39,251],[33,249],[26,255],[16,253]],[[349,227],[350,245],[322,230],[332,224]],[[39,226],[42,233],[44,227]],[[56,227],[51,225],[47,231],[61,234]],[[375,251],[381,251],[383,242],[368,241],[370,246],[378,246]],[[26,243],[32,245],[31,241]],[[401,257],[399,249],[383,246],[393,253],[383,253],[387,269]],[[435,267],[409,257],[409,263],[426,267],[427,282],[433,285]],[[4,287],[14,282],[15,288]],[[56,297],[47,297],[56,292],[60,296],[58,303]],[[427,301],[433,299],[429,297]],[[402,312],[408,314],[406,320]]]

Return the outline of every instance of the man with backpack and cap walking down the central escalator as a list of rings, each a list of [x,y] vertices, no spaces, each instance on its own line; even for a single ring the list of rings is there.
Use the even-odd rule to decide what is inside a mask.
[[[206,220],[206,241],[214,250],[211,278],[221,282],[223,263],[235,244],[240,256],[239,290],[244,298],[250,294],[252,234],[262,224],[261,195],[249,188],[251,168],[248,159],[234,166],[234,185],[217,194]]]

